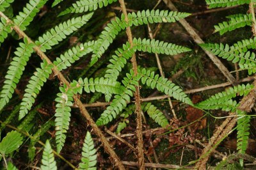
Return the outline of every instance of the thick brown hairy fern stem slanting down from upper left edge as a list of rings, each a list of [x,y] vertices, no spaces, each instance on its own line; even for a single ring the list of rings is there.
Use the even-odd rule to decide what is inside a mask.
[[[6,19],[7,22],[12,22],[12,20],[8,19],[8,17],[6,17],[6,15],[4,15],[4,13],[0,12],[0,16],[4,17],[4,19]],[[20,37],[27,38],[29,43],[35,44],[22,30],[20,30],[20,28],[18,26],[14,25],[13,29],[16,31],[16,33]],[[57,77],[60,80],[60,82],[63,83],[63,84],[67,84],[67,87],[70,88],[70,84],[67,81],[67,79],[65,79],[65,77],[58,70],[58,68],[52,64],[51,60],[44,54],[44,52],[42,52],[40,47],[34,45],[33,49],[35,50],[36,54],[38,54],[38,56],[40,56],[41,59],[45,59],[49,65],[53,66],[52,71],[54,72],[55,75],[57,75]],[[86,118],[86,120],[89,121],[89,123],[92,126],[93,130],[95,130],[95,134],[97,134],[100,137],[101,142],[102,142],[103,147],[106,150],[106,152],[108,152],[110,157],[113,158],[113,164],[115,164],[115,166],[117,166],[119,169],[125,169],[124,166],[122,165],[122,162],[120,161],[120,158],[118,158],[118,156],[116,155],[115,151],[111,148],[111,145],[108,143],[108,140],[106,139],[106,137],[104,137],[104,135],[100,131],[99,127],[95,124],[95,122],[93,121],[93,119],[90,116],[90,114],[86,111],[86,109],[83,106],[81,100],[79,100],[77,95],[74,95],[73,98],[74,98],[74,101],[76,102],[77,106],[79,107],[79,109],[81,111],[81,114],[84,116],[84,118]]]

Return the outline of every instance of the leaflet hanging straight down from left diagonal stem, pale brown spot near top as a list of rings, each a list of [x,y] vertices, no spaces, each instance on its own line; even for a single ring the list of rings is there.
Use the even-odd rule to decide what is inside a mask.
[[[56,144],[57,152],[60,153],[63,145],[65,143],[66,135],[70,122],[70,111],[72,101],[73,101],[73,92],[68,89],[67,86],[60,87],[61,93],[57,94],[55,101],[56,104],[56,113],[55,113],[55,130],[56,130]]]

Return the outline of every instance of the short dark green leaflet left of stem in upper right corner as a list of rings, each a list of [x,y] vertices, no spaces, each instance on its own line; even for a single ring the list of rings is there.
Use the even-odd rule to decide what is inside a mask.
[[[230,18],[228,22],[221,22],[218,26],[214,26],[215,33],[220,32],[220,35],[233,31],[234,29],[251,26],[252,25],[252,14],[241,14],[238,17]]]

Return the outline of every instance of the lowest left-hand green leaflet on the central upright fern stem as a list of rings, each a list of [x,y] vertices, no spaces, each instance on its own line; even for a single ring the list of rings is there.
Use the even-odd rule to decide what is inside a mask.
[[[133,96],[132,91],[135,91],[134,86],[138,86],[138,76],[134,76],[134,73],[131,70],[131,73],[126,73],[126,77],[122,83],[124,87],[120,95],[115,95],[113,102],[107,107],[107,109],[100,115],[100,118],[96,121],[97,125],[106,125],[126,107],[127,102],[130,102],[131,97]]]

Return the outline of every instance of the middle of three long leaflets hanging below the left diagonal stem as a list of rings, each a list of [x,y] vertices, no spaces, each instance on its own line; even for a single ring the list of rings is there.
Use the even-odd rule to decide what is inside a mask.
[[[19,120],[24,118],[28,111],[31,109],[32,105],[35,103],[35,98],[40,92],[42,85],[47,81],[49,75],[51,74],[52,65],[49,65],[46,60],[41,63],[41,68],[36,68],[36,72],[31,77],[26,89],[24,97],[22,98]]]

